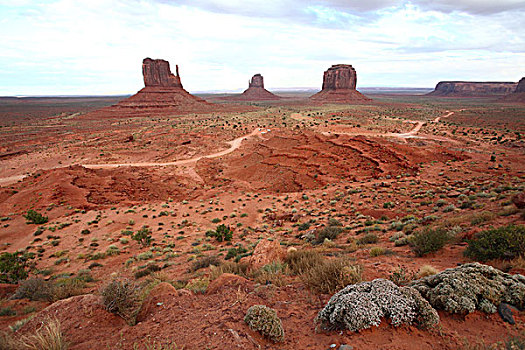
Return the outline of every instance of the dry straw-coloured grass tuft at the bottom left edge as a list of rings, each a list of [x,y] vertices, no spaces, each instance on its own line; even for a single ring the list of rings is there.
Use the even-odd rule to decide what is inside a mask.
[[[23,336],[20,345],[22,349],[33,350],[66,350],[69,347],[57,319],[47,319],[35,334]]]

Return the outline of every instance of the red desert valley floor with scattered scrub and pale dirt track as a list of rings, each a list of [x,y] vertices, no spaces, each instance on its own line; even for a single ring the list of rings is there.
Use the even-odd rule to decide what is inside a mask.
[[[464,251],[477,233],[525,223],[513,202],[525,190],[524,104],[369,97],[125,117],[93,112],[113,98],[1,99],[0,252],[28,253],[31,277],[67,286],[63,298],[31,300],[2,284],[1,330],[30,335],[52,317],[71,349],[488,349],[524,339],[519,310],[514,325],[497,312],[438,309],[430,329],[383,319],[316,330],[344,285],[325,289],[291,255],[313,251],[353,278],[403,285],[475,261]],[[28,223],[30,210],[48,221]],[[221,225],[231,240],[214,236]],[[449,239],[418,254],[411,237],[428,229]],[[523,258],[482,262],[525,272]],[[100,301],[119,278],[140,290],[133,320]],[[257,304],[276,311],[284,342],[245,323]]]

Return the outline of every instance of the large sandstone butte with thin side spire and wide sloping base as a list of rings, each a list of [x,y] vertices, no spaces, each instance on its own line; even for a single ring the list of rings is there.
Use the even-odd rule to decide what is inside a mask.
[[[175,75],[168,61],[145,58],[142,61],[144,88],[119,103],[89,113],[87,118],[140,117],[240,110],[239,106],[209,103],[186,91],[181,83],[179,66]],[[244,109],[246,109],[244,107]]]

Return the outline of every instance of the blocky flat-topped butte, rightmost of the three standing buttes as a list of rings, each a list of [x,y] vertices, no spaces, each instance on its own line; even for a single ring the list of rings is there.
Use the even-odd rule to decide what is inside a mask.
[[[320,102],[353,103],[370,99],[356,90],[357,74],[349,64],[335,64],[323,75],[323,89],[310,99]]]

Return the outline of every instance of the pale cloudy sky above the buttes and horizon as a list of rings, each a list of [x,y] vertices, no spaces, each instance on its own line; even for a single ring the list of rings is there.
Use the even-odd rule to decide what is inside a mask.
[[[190,92],[518,81],[525,0],[0,0],[0,96],[135,93],[145,57]]]

